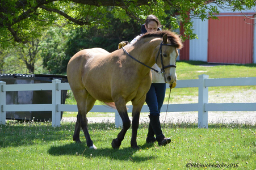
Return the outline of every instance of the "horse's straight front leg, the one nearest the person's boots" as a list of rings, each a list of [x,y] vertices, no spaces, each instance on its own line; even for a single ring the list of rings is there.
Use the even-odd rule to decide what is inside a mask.
[[[131,139],[131,147],[132,148],[139,148],[137,145],[137,131],[139,128],[139,121],[140,121],[140,111],[145,103],[145,97],[142,97],[139,102],[132,101],[132,139]]]

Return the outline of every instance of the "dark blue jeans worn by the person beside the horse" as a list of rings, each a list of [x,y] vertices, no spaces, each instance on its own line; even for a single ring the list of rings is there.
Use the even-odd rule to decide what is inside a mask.
[[[152,83],[146,94],[146,104],[148,104],[150,115],[160,116],[163,100],[165,100],[165,83]]]

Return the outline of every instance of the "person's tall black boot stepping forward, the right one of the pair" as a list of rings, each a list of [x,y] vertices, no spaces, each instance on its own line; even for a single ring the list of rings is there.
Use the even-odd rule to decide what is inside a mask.
[[[171,142],[170,138],[166,138],[165,135],[163,135],[163,132],[161,130],[161,124],[160,124],[160,120],[159,120],[160,116],[152,116],[149,115],[149,119],[150,119],[150,123],[151,126],[154,130],[154,133],[156,134],[156,139],[158,142],[158,145],[161,146],[165,146],[166,144]]]

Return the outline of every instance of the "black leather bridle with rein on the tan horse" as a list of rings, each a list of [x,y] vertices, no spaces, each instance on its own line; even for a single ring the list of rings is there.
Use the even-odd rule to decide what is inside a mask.
[[[167,66],[164,66],[164,65],[163,65],[163,56],[162,56],[162,46],[163,46],[163,45],[174,46],[174,45],[172,45],[172,44],[163,44],[163,42],[161,42],[160,48],[159,48],[158,53],[157,53],[157,58],[156,58],[156,63],[157,63],[157,59],[158,59],[158,56],[159,56],[159,54],[160,54],[160,57],[161,57],[161,65],[162,65],[162,69],[161,69],[161,72],[160,72],[160,73],[159,73],[158,70],[153,69],[152,67],[149,67],[149,66],[145,65],[143,62],[140,62],[140,61],[137,60],[136,58],[132,57],[132,56],[124,49],[123,46],[122,46],[122,48],[123,48],[124,52],[125,52],[129,57],[131,57],[132,59],[134,59],[135,61],[141,63],[142,65],[148,67],[148,68],[151,69],[151,70],[156,71],[156,72],[159,73],[159,74],[165,74],[165,69],[167,69],[167,68],[169,68],[169,67],[175,67],[175,68],[176,68],[176,65],[167,65]]]

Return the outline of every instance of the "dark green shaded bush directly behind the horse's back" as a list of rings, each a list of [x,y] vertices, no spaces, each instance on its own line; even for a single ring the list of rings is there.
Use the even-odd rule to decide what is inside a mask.
[[[117,50],[119,42],[127,40],[131,41],[141,32],[141,25],[136,25],[133,22],[120,23],[114,18],[111,18],[110,22],[111,24],[108,25],[108,29],[91,27],[77,28],[74,31],[71,31],[69,39],[65,43],[65,56],[58,61],[58,59],[53,59],[57,57],[56,54],[51,52],[51,56],[53,57],[47,59],[48,62],[45,66],[51,69],[50,73],[65,73],[69,59],[79,50],[98,47],[103,48],[108,52],[113,52],[114,50]],[[54,41],[54,39],[52,41]],[[54,50],[56,49],[57,46]],[[53,70],[53,68],[56,69]]]

